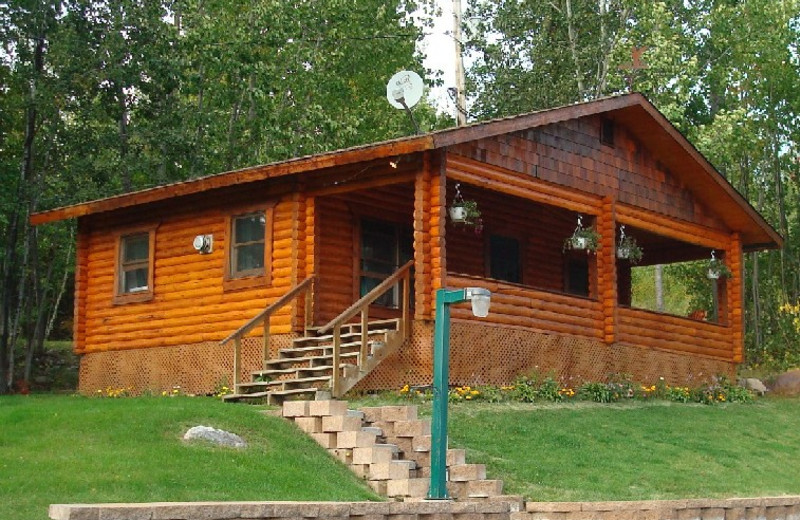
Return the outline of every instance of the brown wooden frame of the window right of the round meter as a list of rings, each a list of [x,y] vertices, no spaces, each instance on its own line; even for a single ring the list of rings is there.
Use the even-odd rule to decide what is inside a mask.
[[[258,270],[234,272],[236,243],[236,220],[252,215],[264,215],[264,264]],[[225,262],[222,280],[223,289],[226,291],[246,289],[250,287],[267,286],[272,282],[272,227],[275,217],[275,203],[261,204],[237,208],[225,216]],[[252,242],[257,243],[257,242]]]

